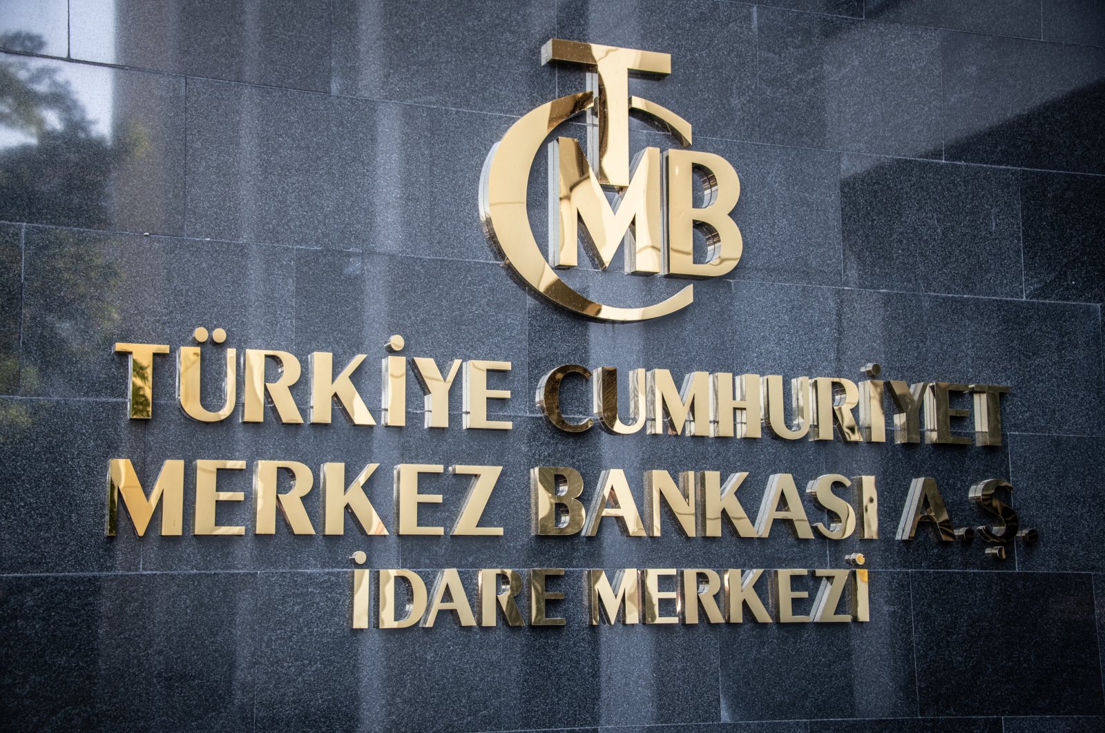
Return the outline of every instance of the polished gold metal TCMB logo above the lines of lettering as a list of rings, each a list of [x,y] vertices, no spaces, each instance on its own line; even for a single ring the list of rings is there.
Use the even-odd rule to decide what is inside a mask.
[[[708,278],[725,275],[740,259],[740,230],[729,213],[740,195],[733,166],[720,156],[690,149],[644,148],[629,158],[629,115],[640,115],[691,145],[691,124],[664,107],[629,95],[631,72],[671,73],[671,55],[554,39],[541,49],[550,61],[587,67],[588,91],[530,110],[495,144],[480,180],[480,212],[487,238],[504,265],[533,293],[580,316],[603,321],[641,321],[675,312],[694,300],[694,286],[656,304],[625,308],[591,300],[573,290],[557,268],[578,264],[582,240],[596,267],[607,269],[625,242],[625,273]],[[526,189],[533,160],[557,127],[587,113],[587,150],[560,137],[549,142],[548,259],[529,226]],[[588,160],[598,159],[597,171]],[[703,205],[695,206],[695,176],[704,178]],[[614,192],[613,205],[606,191]],[[579,223],[586,229],[580,236]],[[706,241],[706,262],[694,261],[695,231]]]

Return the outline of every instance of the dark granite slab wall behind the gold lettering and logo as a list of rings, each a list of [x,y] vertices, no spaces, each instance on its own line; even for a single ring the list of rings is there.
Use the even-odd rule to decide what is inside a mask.
[[[1105,3],[1096,0],[0,0],[0,721],[14,730],[1105,730]],[[549,38],[672,54],[633,91],[741,177],[738,267],[654,323],[581,321],[526,296],[476,214],[519,115],[582,88]],[[649,136],[653,136],[650,138]],[[661,137],[643,129],[641,144]],[[544,163],[541,163],[544,164]],[[540,166],[538,168],[540,168]],[[535,173],[534,191],[543,188]],[[534,215],[537,229],[544,213]],[[540,238],[540,234],[538,235]],[[664,287],[577,272],[642,301]],[[514,364],[509,433],[198,425],[158,362],[126,419],[115,341]],[[557,434],[554,365],[1008,384],[1000,448]],[[364,392],[378,390],[365,369]],[[296,392],[305,404],[302,385]],[[579,392],[566,394],[582,407]],[[376,410],[377,402],[369,400]],[[454,404],[459,401],[454,400]],[[377,413],[378,414],[378,413]],[[110,457],[504,466],[504,539],[103,534]],[[538,541],[528,467],[878,478],[876,542]],[[908,482],[957,524],[1003,477],[1034,546],[893,540]],[[148,477],[148,478],[147,478]],[[635,477],[635,478],[634,478]],[[188,497],[191,496],[191,472]],[[248,477],[229,476],[246,490]],[[460,478],[436,487],[445,521]],[[317,492],[315,492],[317,495]],[[312,503],[314,501],[314,503]],[[308,501],[317,516],[316,497]],[[252,501],[220,508],[250,523]],[[186,502],[186,527],[191,509]],[[348,628],[373,567],[561,566],[559,629]],[[586,567],[841,567],[870,624],[600,627]],[[429,573],[427,573],[429,575]],[[467,574],[465,575],[467,577]],[[651,730],[651,729],[650,729]],[[663,730],[667,730],[666,727]]]

